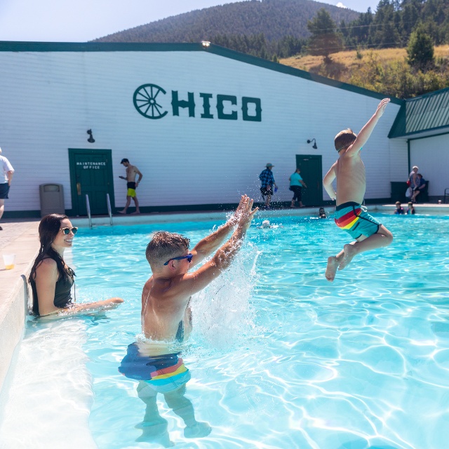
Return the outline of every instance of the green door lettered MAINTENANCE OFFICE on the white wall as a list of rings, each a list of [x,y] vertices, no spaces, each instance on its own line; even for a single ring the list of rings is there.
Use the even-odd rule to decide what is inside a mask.
[[[73,214],[87,215],[87,194],[91,214],[106,215],[106,194],[114,205],[111,150],[69,148],[69,163]]]

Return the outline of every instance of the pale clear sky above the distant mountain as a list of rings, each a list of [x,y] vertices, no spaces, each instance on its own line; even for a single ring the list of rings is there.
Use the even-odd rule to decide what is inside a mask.
[[[378,0],[322,0],[359,12]],[[0,41],[85,42],[227,0],[0,0]]]

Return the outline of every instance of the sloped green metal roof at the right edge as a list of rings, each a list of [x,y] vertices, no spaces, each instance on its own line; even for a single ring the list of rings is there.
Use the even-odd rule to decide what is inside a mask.
[[[391,126],[389,138],[448,128],[449,88],[405,100]]]

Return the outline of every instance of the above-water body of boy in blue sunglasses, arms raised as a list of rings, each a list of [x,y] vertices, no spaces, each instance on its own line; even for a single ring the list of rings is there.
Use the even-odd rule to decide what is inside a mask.
[[[147,246],[152,276],[142,290],[142,333],[152,340],[182,342],[192,330],[190,299],[220,276],[241,248],[257,208],[243,195],[229,220],[189,250],[180,234],[156,232]],[[228,234],[232,236],[226,242]],[[188,272],[209,255],[199,269]]]

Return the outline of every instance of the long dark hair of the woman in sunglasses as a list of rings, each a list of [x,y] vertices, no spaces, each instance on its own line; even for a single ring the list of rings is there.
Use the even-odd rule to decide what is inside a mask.
[[[41,247],[34,260],[31,272],[29,272],[29,283],[31,283],[31,280],[34,280],[34,277],[36,276],[36,267],[46,258],[53,259],[56,262],[61,277],[67,279],[69,276],[72,276],[72,273],[67,270],[64,260],[62,260],[58,251],[54,250],[51,246],[53,241],[55,241],[56,236],[58,236],[58,232],[60,232],[62,220],[68,220],[68,218],[67,215],[59,213],[51,213],[42,218],[39,223],[39,241],[41,242]]]

